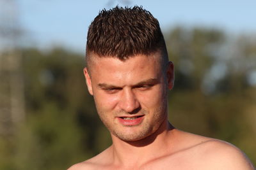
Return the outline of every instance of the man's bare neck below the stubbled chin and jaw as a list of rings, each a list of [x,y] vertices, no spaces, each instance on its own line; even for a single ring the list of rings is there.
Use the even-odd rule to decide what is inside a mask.
[[[174,127],[168,120],[164,120],[156,132],[139,141],[122,141],[111,134],[113,160],[123,166],[140,166],[165,155],[168,152],[166,148],[169,149],[172,143],[169,140],[172,139],[172,129]]]

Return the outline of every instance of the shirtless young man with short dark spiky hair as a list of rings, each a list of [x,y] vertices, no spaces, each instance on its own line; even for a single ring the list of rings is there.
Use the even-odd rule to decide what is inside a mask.
[[[79,169],[253,169],[229,143],[168,122],[173,64],[159,23],[148,11],[100,11],[88,31],[84,76],[113,145],[70,167]]]

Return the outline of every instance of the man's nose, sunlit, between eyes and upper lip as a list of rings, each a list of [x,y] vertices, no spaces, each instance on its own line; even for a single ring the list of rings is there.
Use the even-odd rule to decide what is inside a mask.
[[[140,108],[140,103],[131,89],[124,89],[119,105],[123,111],[130,114],[136,113]]]

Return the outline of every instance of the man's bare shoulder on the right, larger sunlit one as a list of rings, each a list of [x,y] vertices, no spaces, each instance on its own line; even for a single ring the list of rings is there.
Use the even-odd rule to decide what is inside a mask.
[[[180,138],[181,153],[188,155],[189,158],[193,158],[191,160],[194,163],[196,162],[196,164],[204,168],[254,169],[246,155],[230,143],[179,131],[178,129],[175,132]]]

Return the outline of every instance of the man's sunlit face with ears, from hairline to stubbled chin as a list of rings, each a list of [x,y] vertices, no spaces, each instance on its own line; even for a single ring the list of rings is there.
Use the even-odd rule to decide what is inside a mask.
[[[167,90],[173,86],[173,66],[164,70],[159,53],[125,61],[97,57],[84,74],[99,117],[117,138],[138,141],[167,120]]]

